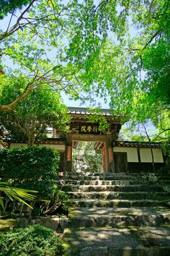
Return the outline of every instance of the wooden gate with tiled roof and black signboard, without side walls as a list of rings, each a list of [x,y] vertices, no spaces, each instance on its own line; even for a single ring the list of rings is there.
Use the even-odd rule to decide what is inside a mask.
[[[102,163],[104,172],[115,172],[113,145],[120,132],[120,119],[115,119],[108,109],[102,109],[102,116],[107,120],[109,128],[99,131],[99,121],[90,123],[88,115],[92,115],[86,108],[69,108],[71,115],[70,130],[66,135],[65,170],[71,171],[72,149],[76,148],[77,142],[96,142],[95,149],[102,148]]]

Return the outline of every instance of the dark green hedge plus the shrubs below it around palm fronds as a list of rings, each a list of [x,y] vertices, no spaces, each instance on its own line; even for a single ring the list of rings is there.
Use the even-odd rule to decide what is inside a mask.
[[[13,187],[38,191],[33,210],[29,215],[40,216],[68,212],[68,195],[61,192],[55,182],[58,175],[59,154],[53,148],[28,147],[14,150],[0,150],[0,177]],[[4,195],[2,195],[4,196]],[[19,203],[8,202],[6,211],[12,214],[28,213]],[[22,210],[20,210],[22,209]]]

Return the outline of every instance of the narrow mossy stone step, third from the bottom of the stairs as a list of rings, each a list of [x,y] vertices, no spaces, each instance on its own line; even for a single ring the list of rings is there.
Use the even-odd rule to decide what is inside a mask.
[[[97,199],[74,199],[70,203],[72,207],[80,208],[131,208],[131,207],[153,207],[153,206],[167,206],[167,200],[97,200]]]

